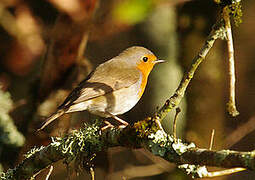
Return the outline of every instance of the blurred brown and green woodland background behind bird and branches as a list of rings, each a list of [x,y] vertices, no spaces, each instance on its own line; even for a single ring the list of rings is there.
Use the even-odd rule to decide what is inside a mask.
[[[226,42],[217,40],[191,81],[178,117],[178,137],[213,149],[255,149],[255,1],[243,4],[243,23],[233,26],[236,100],[240,115],[226,112]],[[47,145],[94,117],[65,115],[35,132],[79,81],[98,64],[139,45],[167,63],[151,73],[145,94],[123,119],[153,114],[177,88],[198,53],[220,7],[213,0],[1,0],[0,1],[0,171],[13,168],[34,146]],[[164,120],[171,133],[174,112]],[[54,164],[50,179],[88,179],[73,164]],[[210,170],[217,170],[209,168]],[[48,170],[37,179],[45,179]],[[112,148],[98,154],[96,179],[191,179],[174,164],[144,150]],[[244,171],[215,179],[254,179]]]

